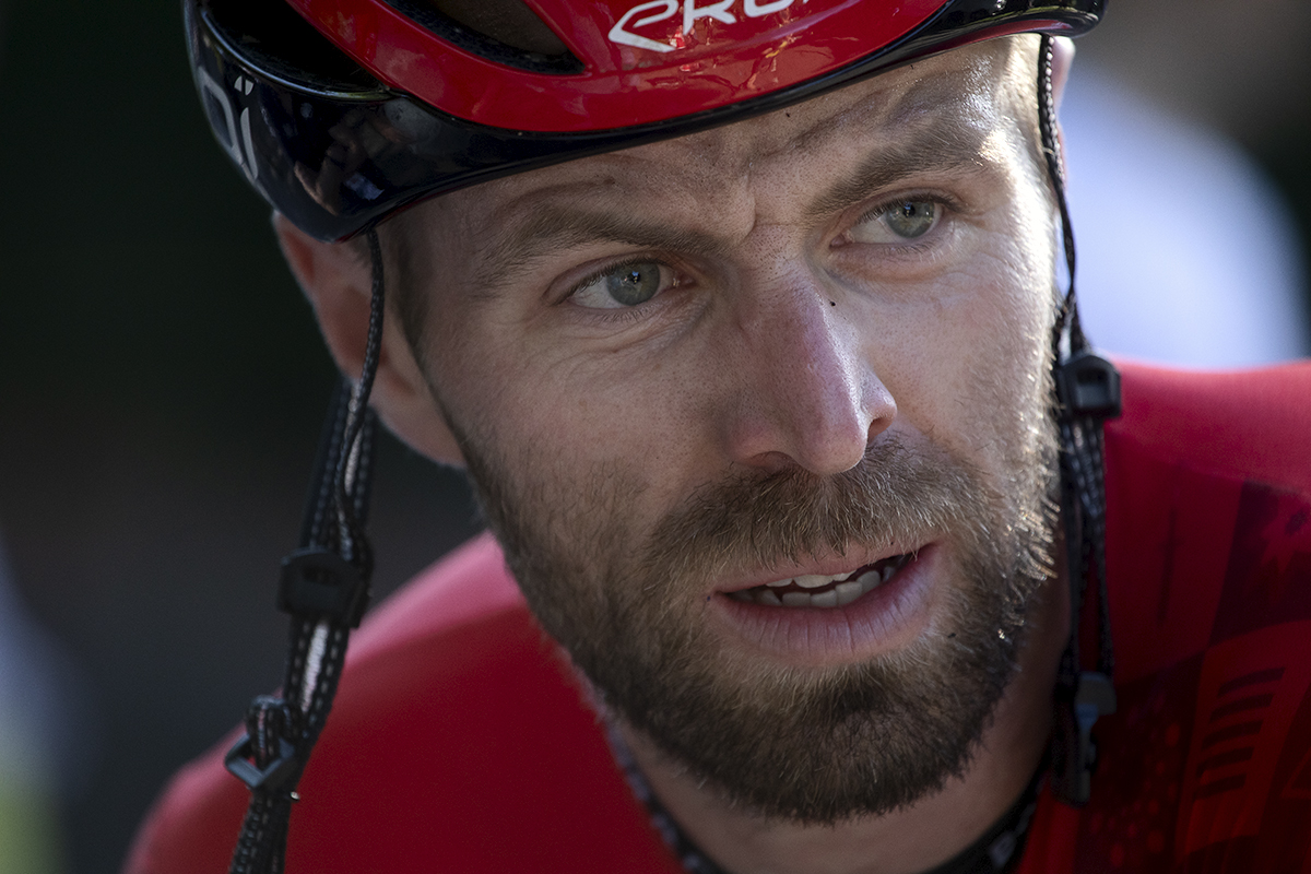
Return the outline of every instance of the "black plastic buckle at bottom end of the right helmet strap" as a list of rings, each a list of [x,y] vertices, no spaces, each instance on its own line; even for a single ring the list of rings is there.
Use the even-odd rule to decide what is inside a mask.
[[[1074,685],[1057,689],[1055,743],[1051,744],[1053,791],[1067,805],[1082,807],[1092,794],[1097,742],[1092,726],[1116,712],[1116,688],[1099,671],[1084,671]]]

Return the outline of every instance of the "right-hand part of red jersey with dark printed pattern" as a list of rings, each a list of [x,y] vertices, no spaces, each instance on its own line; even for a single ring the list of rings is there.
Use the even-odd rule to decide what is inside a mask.
[[[1311,871],[1311,364],[1124,372],[1120,710],[1092,802],[1023,871]]]

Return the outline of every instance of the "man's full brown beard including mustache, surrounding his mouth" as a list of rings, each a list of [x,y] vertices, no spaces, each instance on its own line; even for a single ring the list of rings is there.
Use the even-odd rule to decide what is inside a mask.
[[[579,477],[520,459],[511,478],[456,436],[530,608],[603,710],[734,807],[819,824],[909,806],[969,767],[1053,575],[1055,442],[1038,418],[1021,417],[1000,474],[885,432],[842,474],[726,477],[654,529],[625,512],[644,489],[619,464]],[[929,541],[948,546],[941,609],[867,662],[779,664],[703,616],[708,580],[743,569]]]

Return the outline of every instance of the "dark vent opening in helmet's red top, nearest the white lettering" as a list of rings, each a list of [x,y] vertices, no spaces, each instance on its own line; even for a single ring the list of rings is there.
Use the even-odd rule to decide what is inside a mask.
[[[523,0],[384,0],[438,37],[488,60],[536,73],[583,64]]]

